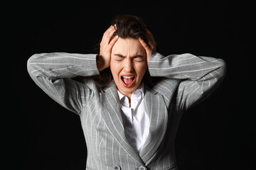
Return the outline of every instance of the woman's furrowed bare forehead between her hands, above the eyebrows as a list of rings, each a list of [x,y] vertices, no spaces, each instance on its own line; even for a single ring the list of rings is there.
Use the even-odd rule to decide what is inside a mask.
[[[120,53],[122,55],[144,55],[144,47],[137,39],[118,38],[112,47],[112,53]]]

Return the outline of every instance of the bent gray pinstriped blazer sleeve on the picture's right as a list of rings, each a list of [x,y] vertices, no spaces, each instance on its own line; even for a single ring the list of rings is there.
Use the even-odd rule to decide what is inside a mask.
[[[198,57],[189,53],[164,57],[159,53],[149,61],[152,77],[178,79],[176,105],[181,110],[203,101],[225,77],[226,64],[213,57]]]

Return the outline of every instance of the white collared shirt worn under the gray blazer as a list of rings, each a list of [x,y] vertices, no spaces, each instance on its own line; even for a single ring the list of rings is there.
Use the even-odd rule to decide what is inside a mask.
[[[132,93],[131,107],[129,99],[119,91],[119,103],[124,120],[124,131],[130,144],[137,152],[142,150],[146,137],[149,135],[149,114],[144,101],[144,84]]]

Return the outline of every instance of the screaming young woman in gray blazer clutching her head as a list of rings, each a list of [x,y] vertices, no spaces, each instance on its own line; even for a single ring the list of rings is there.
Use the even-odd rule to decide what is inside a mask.
[[[142,19],[123,15],[105,31],[99,55],[36,54],[28,73],[80,116],[86,169],[177,169],[181,116],[218,87],[225,62],[191,54],[165,57]]]

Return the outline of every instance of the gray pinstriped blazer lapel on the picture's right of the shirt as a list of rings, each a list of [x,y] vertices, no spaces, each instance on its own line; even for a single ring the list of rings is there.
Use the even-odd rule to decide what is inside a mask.
[[[156,154],[164,138],[168,122],[168,111],[163,96],[156,91],[146,90],[144,98],[149,113],[150,127],[149,136],[140,152],[140,157],[147,165],[154,159],[154,154]]]

